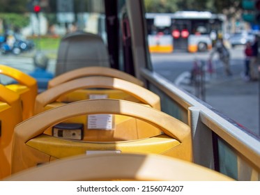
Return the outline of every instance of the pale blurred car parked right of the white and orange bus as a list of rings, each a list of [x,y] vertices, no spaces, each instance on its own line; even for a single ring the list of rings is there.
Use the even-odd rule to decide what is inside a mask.
[[[234,33],[231,34],[228,40],[231,47],[235,47],[236,45],[245,45],[247,41],[254,42],[254,33]]]

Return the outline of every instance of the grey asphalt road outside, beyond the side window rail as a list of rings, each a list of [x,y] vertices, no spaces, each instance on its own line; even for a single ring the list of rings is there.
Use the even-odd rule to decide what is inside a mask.
[[[213,73],[205,68],[204,102],[214,107],[220,114],[236,121],[254,134],[259,130],[259,81],[245,81],[243,47],[231,49],[231,71],[233,75],[224,74],[222,63],[217,56],[213,59]],[[194,60],[208,62],[209,53],[187,54],[152,54],[151,59],[155,72],[174,82],[178,87],[192,95],[200,95],[198,88],[190,82],[190,70]]]

